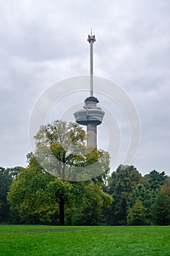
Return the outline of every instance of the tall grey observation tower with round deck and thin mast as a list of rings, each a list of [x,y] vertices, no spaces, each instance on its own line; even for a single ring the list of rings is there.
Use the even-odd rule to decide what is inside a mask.
[[[97,106],[98,99],[93,97],[93,43],[96,41],[95,35],[88,35],[90,44],[90,97],[85,99],[82,109],[74,112],[74,118],[78,124],[87,126],[87,146],[97,147],[97,126],[104,118],[104,111]]]

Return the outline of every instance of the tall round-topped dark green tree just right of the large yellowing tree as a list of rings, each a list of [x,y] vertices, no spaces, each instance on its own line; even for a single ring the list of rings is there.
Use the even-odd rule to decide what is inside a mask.
[[[109,224],[125,225],[127,222],[128,197],[142,183],[142,175],[136,168],[120,165],[109,179],[109,194],[114,199],[108,216]]]

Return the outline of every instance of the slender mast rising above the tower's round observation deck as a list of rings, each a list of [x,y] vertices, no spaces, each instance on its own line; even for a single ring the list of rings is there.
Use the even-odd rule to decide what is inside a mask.
[[[95,35],[88,35],[88,42],[90,43],[90,96],[93,97],[93,42],[96,41]]]

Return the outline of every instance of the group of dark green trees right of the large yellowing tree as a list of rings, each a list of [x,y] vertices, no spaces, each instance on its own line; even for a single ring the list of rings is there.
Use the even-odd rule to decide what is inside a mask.
[[[170,178],[152,170],[142,177],[134,166],[120,165],[109,178],[107,192],[114,201],[109,225],[169,225]]]

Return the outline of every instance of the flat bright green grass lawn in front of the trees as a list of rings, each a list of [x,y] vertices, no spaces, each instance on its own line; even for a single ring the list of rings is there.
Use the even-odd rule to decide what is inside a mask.
[[[169,256],[170,227],[0,225],[0,255]]]

